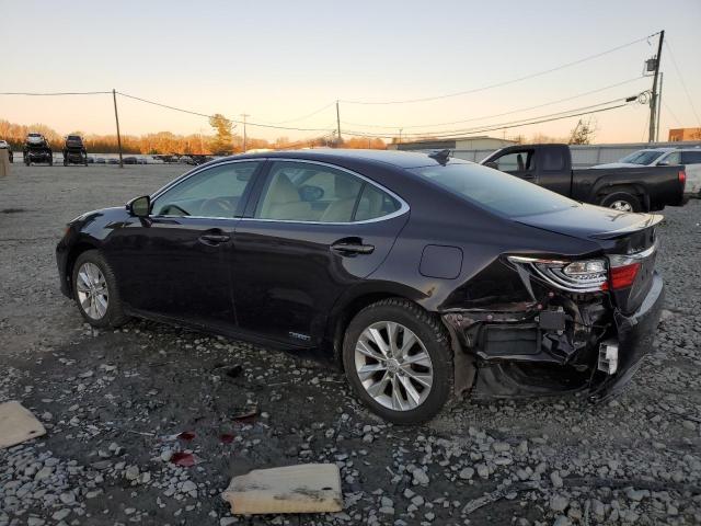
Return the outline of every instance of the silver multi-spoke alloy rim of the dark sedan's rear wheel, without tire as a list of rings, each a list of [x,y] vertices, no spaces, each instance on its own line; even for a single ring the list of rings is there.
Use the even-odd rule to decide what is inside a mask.
[[[360,384],[380,405],[410,411],[421,405],[434,382],[434,368],[424,343],[393,321],[367,327],[355,347]]]

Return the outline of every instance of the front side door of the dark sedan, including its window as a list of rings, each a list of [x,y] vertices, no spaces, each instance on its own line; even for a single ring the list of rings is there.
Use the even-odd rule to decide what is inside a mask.
[[[237,325],[227,252],[262,161],[204,168],[153,196],[151,214],[108,237],[123,300],[204,327]]]

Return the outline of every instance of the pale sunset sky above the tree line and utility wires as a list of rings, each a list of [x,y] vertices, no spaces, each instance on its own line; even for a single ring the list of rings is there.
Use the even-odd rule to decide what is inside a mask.
[[[118,91],[253,123],[334,129],[336,99],[398,101],[473,90],[556,68],[666,30],[660,138],[701,126],[701,1],[0,0],[0,92]],[[441,132],[536,118],[637,94],[657,37],[530,80],[437,101],[341,103],[342,132]],[[634,80],[636,79],[636,80]],[[527,112],[495,114],[547,104]],[[122,132],[209,133],[207,119],[119,99]],[[321,110],[327,105],[327,107]],[[298,118],[319,111],[308,118]],[[597,142],[647,138],[647,106],[596,115]],[[0,95],[0,118],[60,133],[114,133],[112,95]],[[474,119],[463,124],[432,124]],[[577,117],[506,130],[566,136]],[[376,127],[376,126],[388,126]],[[240,133],[241,127],[237,128]],[[486,135],[503,137],[504,132]],[[291,139],[317,132],[249,127]],[[466,134],[471,135],[471,134]],[[485,135],[485,134],[475,134]]]

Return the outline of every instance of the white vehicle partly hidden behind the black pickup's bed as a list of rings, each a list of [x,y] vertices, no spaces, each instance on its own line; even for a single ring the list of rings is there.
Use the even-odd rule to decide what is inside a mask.
[[[683,164],[687,173],[685,193],[701,198],[701,148],[648,148],[625,156],[618,162],[593,168],[671,167]]]

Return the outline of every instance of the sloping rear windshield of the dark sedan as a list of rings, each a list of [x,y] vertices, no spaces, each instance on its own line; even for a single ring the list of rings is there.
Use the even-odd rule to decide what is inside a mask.
[[[470,203],[506,217],[558,211],[578,204],[508,173],[473,163],[413,168],[412,172]]]

